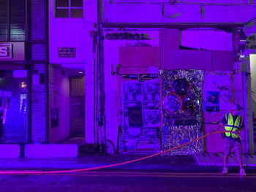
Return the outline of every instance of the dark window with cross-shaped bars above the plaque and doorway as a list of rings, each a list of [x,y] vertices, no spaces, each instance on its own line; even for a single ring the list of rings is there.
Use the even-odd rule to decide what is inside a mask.
[[[56,18],[83,18],[83,0],[56,0]]]

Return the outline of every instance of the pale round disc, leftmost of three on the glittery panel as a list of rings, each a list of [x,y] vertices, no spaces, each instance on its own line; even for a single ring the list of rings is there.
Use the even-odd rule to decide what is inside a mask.
[[[181,98],[175,94],[168,94],[162,101],[162,105],[167,112],[178,112],[181,110]]]

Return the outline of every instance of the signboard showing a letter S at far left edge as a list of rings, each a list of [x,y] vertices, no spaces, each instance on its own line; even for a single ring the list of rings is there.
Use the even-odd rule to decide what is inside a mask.
[[[24,42],[0,42],[0,61],[24,61]]]

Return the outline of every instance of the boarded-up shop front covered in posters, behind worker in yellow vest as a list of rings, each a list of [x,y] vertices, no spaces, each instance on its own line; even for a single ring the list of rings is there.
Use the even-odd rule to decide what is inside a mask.
[[[219,38],[219,44],[209,45],[200,34]],[[186,38],[199,43],[181,41]],[[106,30],[105,66],[113,66],[105,80],[116,85],[106,85],[107,139],[117,141],[119,153],[156,153],[211,133],[217,125],[207,123],[220,120],[234,103],[247,109],[248,82],[244,72],[234,71],[241,62],[234,62],[232,45],[232,34],[224,31]],[[244,153],[252,150],[249,118],[241,133]],[[164,155],[222,153],[222,145],[216,134]]]

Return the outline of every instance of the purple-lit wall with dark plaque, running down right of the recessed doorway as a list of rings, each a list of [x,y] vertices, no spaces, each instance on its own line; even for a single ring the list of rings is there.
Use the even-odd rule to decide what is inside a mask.
[[[49,1],[50,64],[85,69],[86,143],[94,143],[94,55],[93,37],[97,23],[97,0],[83,0],[84,18],[54,18],[54,0]],[[76,47],[76,58],[59,58],[59,47]]]

